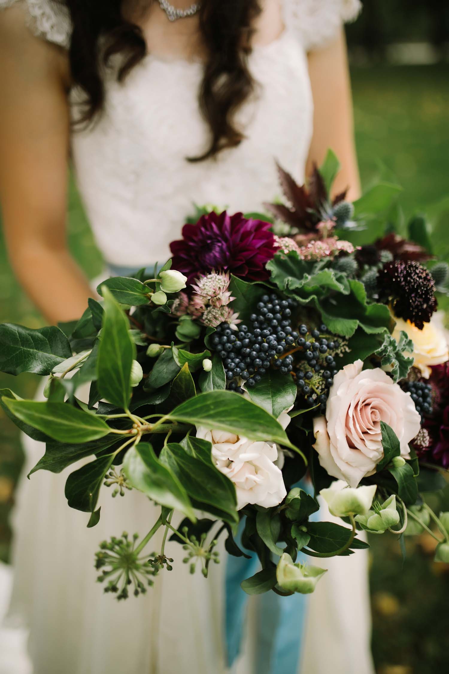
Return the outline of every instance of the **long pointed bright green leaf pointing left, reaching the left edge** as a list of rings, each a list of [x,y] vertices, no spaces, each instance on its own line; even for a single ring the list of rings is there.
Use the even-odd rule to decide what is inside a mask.
[[[83,443],[110,433],[108,425],[65,402],[36,402],[3,398],[9,410],[24,423],[59,442]]]

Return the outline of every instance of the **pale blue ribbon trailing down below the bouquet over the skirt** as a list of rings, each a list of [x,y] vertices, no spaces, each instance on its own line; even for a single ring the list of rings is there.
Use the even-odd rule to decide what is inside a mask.
[[[133,276],[136,272],[135,268],[113,264],[108,264],[108,269],[111,276]],[[147,270],[151,276],[154,266],[147,266]],[[305,480],[298,483],[298,486],[310,493],[310,484]],[[319,513],[314,514],[311,519],[318,520],[318,515]],[[244,523],[241,524],[238,536],[239,545],[241,545],[240,536],[244,528]],[[249,597],[240,587],[240,583],[245,578],[256,574],[261,568],[257,555],[246,552],[251,555],[250,559],[228,555],[226,561],[225,640],[229,667],[234,665],[240,654],[242,635],[245,632],[244,623]],[[306,556],[300,553],[298,561],[305,560]],[[260,603],[256,625],[256,673],[298,674],[306,626],[308,596],[305,594],[279,596],[275,592],[267,592],[258,597],[256,601]]]

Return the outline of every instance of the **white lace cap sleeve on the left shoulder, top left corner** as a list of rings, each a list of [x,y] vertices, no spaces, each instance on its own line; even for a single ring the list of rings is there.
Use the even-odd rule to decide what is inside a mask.
[[[44,40],[69,47],[71,22],[67,7],[59,0],[0,0],[0,10],[21,3],[26,9],[30,30]]]

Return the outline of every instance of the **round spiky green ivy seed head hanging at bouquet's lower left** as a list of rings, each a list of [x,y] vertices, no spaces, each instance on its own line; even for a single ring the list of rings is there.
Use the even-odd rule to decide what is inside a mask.
[[[139,557],[141,551],[136,548],[139,534],[134,534],[130,540],[127,532],[123,532],[117,539],[112,536],[110,541],[100,543],[100,550],[95,554],[95,568],[102,569],[98,582],[107,581],[104,592],[114,592],[117,599],[127,599],[129,586],[134,586],[134,596],[145,594],[145,585],[153,585],[152,577],[157,570],[147,561],[147,556]]]

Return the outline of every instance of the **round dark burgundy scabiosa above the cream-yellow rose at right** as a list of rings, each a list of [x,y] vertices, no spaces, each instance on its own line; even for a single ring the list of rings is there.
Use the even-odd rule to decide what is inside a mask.
[[[377,277],[379,299],[390,304],[394,315],[411,321],[419,330],[436,310],[435,282],[418,262],[386,262]]]

